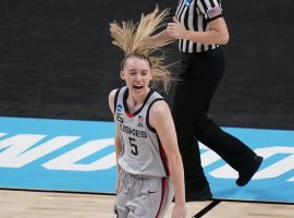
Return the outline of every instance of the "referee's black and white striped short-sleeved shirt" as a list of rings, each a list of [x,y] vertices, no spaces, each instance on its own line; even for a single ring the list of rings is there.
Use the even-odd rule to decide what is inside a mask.
[[[208,23],[222,16],[221,0],[180,0],[175,17],[186,29],[195,32],[208,31]],[[179,49],[182,52],[201,52],[219,47],[218,44],[204,45],[186,39],[180,39]]]

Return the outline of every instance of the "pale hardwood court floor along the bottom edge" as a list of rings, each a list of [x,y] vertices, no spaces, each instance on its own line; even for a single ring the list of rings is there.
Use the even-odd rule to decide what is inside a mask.
[[[98,194],[0,190],[0,218],[108,218],[112,217],[113,199]],[[187,203],[187,217],[208,204]],[[166,218],[171,217],[171,208]],[[294,218],[294,205],[221,202],[203,217]]]

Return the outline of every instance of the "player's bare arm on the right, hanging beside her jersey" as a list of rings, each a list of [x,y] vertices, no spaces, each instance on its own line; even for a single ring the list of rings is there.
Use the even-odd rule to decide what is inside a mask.
[[[149,123],[156,129],[168,157],[175,195],[175,206],[185,208],[183,162],[177,147],[173,119],[166,101],[159,100],[152,105],[149,113]]]

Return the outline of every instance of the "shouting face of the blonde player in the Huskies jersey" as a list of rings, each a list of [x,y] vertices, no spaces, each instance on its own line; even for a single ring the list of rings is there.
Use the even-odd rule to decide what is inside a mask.
[[[149,62],[144,59],[128,58],[125,60],[121,77],[125,81],[130,93],[133,95],[144,95],[149,92],[149,83],[152,78]]]

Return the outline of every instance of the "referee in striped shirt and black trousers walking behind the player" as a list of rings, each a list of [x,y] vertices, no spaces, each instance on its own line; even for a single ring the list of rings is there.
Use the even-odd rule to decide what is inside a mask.
[[[173,22],[151,36],[147,45],[167,38],[179,39],[182,55],[173,118],[184,164],[186,201],[210,199],[212,194],[201,167],[198,141],[238,172],[238,186],[249,182],[262,161],[262,157],[207,117],[225,66],[220,45],[229,40],[221,1],[180,0]]]

